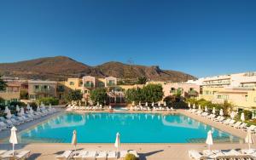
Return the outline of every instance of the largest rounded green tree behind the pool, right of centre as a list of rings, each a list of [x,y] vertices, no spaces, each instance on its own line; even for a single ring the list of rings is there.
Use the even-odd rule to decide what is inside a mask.
[[[164,96],[163,88],[160,84],[148,84],[143,87],[144,100],[148,102],[157,102]]]

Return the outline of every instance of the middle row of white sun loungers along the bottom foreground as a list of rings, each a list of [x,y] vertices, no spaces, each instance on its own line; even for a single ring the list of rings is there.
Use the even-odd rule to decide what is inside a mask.
[[[126,154],[133,154],[135,157],[139,157],[137,151],[64,151],[61,155],[56,156],[56,159],[97,159],[97,160],[111,160],[111,159],[124,159]]]

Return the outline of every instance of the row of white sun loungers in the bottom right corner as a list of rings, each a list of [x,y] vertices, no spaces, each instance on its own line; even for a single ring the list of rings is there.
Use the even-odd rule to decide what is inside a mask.
[[[255,159],[256,152],[248,150],[204,150],[202,152],[191,150],[189,151],[189,157],[196,160],[201,159],[216,159],[216,160],[247,160]]]

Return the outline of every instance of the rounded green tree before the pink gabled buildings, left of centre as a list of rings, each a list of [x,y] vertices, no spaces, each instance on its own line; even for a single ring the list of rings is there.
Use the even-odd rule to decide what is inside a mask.
[[[99,102],[104,104],[107,100],[107,90],[106,89],[94,89],[90,91],[90,100],[94,103]]]

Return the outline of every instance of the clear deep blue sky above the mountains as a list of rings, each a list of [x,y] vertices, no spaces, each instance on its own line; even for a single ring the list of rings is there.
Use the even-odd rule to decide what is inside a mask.
[[[197,77],[256,70],[255,0],[1,0],[0,62],[66,55]]]

